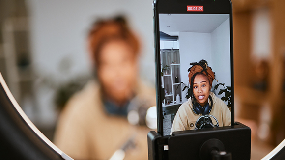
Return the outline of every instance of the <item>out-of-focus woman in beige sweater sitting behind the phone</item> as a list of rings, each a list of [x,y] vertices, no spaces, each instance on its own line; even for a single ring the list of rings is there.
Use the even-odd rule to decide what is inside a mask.
[[[138,80],[137,37],[122,17],[101,20],[89,32],[88,48],[96,79],[64,107],[55,144],[80,160],[107,160],[119,149],[124,160],[146,160],[150,130],[127,120],[134,101],[155,105],[155,91]]]

